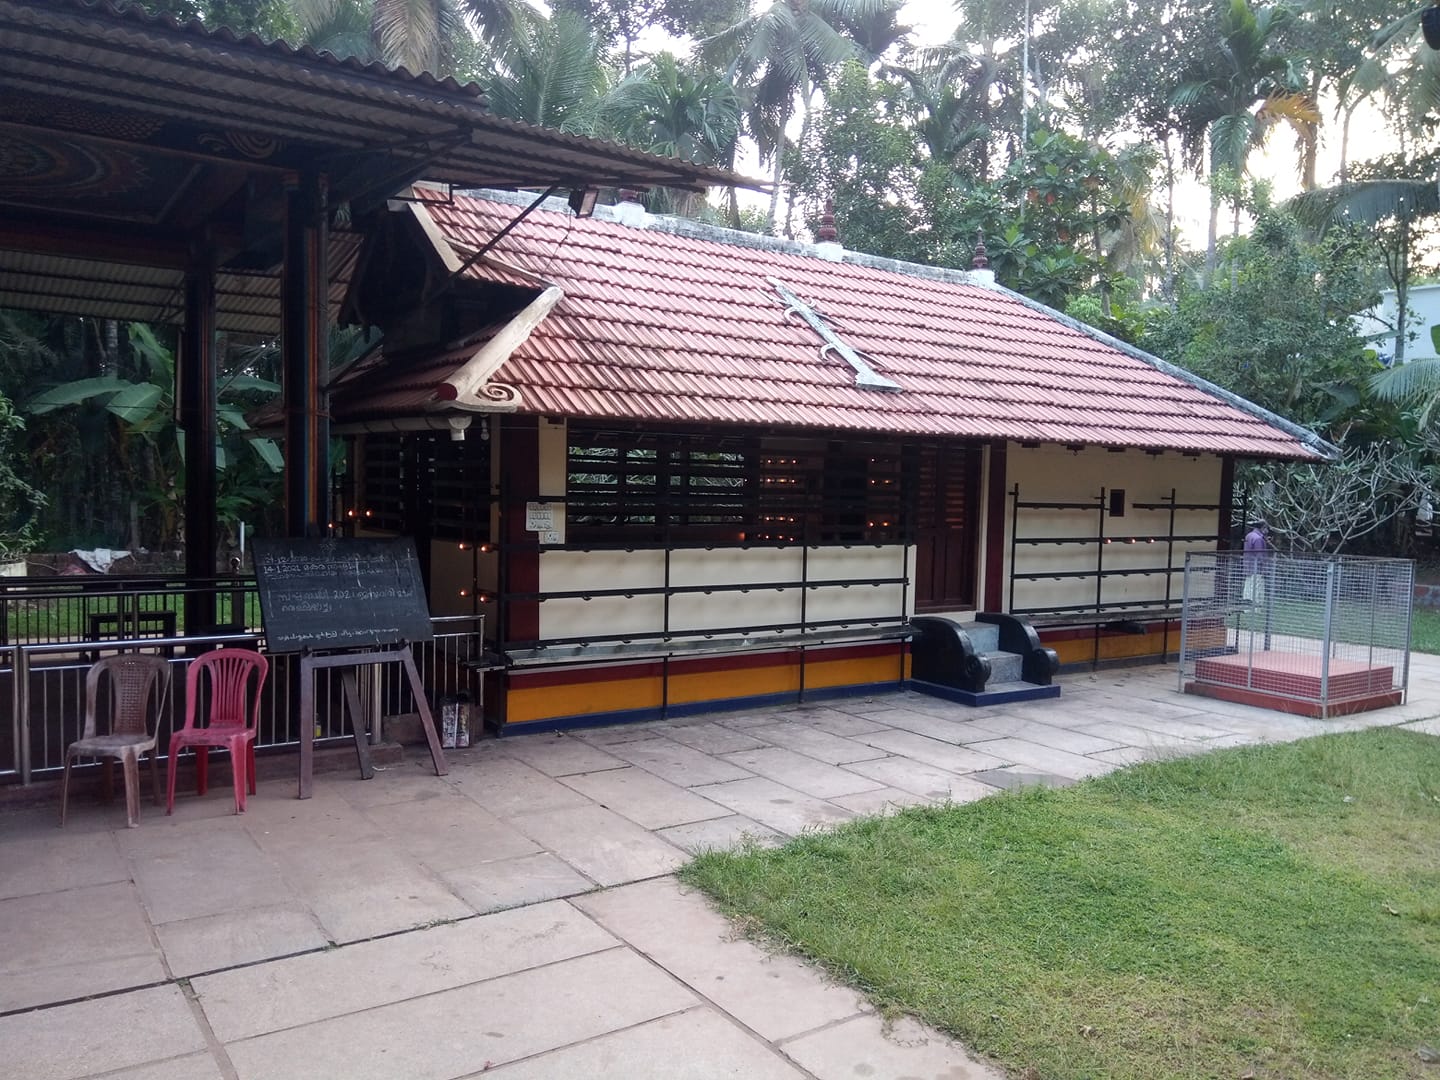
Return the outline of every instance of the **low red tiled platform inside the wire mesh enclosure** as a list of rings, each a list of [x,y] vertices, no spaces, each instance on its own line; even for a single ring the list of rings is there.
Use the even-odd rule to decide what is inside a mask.
[[[1395,670],[1390,664],[1331,660],[1329,700],[1320,697],[1320,657],[1300,652],[1253,652],[1210,657],[1197,661],[1195,678],[1187,694],[1277,708],[1300,716],[1348,716],[1397,706],[1404,698],[1394,690]]]

